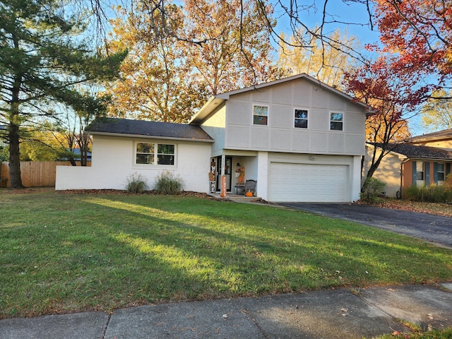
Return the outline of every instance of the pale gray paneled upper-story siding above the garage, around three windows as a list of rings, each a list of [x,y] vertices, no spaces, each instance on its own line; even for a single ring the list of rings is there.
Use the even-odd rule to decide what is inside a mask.
[[[253,104],[268,105],[268,126],[253,125]],[[225,149],[364,155],[364,108],[305,79],[234,94],[225,105]],[[308,129],[295,128],[295,108],[309,111]],[[331,112],[344,114],[343,131],[330,131]]]

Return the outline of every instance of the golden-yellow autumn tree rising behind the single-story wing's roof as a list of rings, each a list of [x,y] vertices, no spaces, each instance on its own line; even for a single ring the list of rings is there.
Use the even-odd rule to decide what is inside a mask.
[[[206,98],[202,83],[191,73],[184,59],[184,43],[167,33],[162,13],[148,11],[137,2],[133,11],[117,8],[121,18],[112,21],[112,51],[128,49],[121,64],[121,79],[109,87],[113,104],[111,113],[117,116],[156,121],[185,122],[194,107]],[[167,6],[176,34],[183,29],[182,11]],[[169,23],[168,23],[169,24]]]

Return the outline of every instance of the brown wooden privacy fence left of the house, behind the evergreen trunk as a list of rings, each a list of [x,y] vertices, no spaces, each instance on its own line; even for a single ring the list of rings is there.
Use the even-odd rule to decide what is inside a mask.
[[[9,162],[0,162],[0,187],[9,187]],[[91,163],[88,162],[88,166]],[[57,166],[71,166],[69,161],[21,161],[20,174],[25,187],[55,186]]]

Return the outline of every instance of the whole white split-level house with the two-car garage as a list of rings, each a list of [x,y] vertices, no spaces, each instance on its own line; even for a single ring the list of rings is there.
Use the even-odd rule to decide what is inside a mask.
[[[169,170],[186,191],[219,192],[224,176],[235,193],[244,169],[267,201],[356,201],[366,113],[366,105],[300,74],[211,97],[185,125],[99,120],[88,128],[92,166],[58,167],[56,189],[124,189],[134,172],[152,188]]]

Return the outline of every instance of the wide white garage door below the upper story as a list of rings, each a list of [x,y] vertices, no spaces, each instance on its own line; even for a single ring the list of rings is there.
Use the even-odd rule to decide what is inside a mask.
[[[270,201],[347,202],[347,165],[270,162]]]

